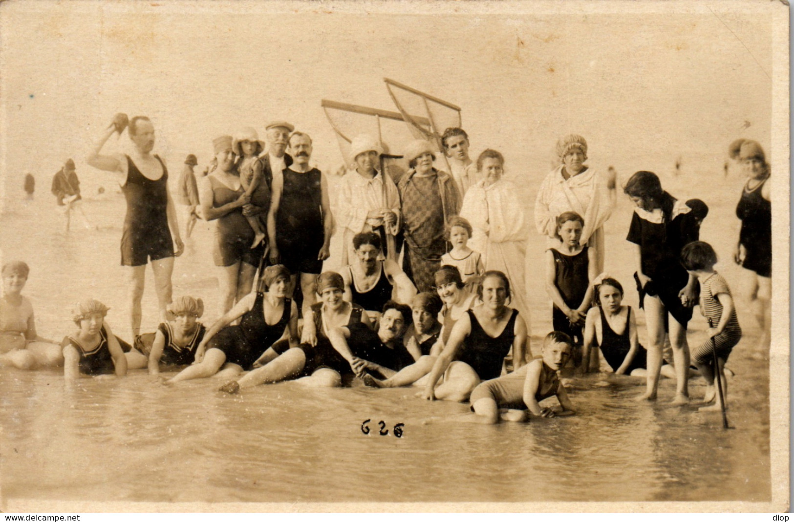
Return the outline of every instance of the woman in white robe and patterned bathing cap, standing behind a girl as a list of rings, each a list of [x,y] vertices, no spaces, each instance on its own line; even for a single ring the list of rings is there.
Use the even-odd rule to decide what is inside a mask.
[[[615,206],[615,171],[610,168],[607,182],[584,162],[588,159],[588,142],[582,136],[569,134],[557,141],[561,165],[543,180],[535,201],[535,225],[538,232],[556,241],[557,216],[576,212],[584,217],[581,244],[588,244],[595,253],[597,272],[603,271],[603,224]]]

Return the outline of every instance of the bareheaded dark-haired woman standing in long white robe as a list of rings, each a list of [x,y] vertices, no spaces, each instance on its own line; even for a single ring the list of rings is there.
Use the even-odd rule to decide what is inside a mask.
[[[521,313],[527,330],[530,330],[530,306],[524,276],[524,205],[518,201],[516,186],[502,179],[504,158],[500,152],[485,149],[477,158],[477,171],[483,179],[468,189],[461,207],[461,217],[472,224],[472,239],[468,247],[480,252],[485,270],[502,271],[510,279],[514,289],[510,305]]]

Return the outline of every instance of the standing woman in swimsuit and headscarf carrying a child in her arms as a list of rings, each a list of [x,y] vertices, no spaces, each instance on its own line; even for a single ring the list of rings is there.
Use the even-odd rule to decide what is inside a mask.
[[[219,136],[213,146],[218,168],[199,182],[198,200],[204,219],[217,220],[212,257],[223,271],[221,311],[227,313],[251,292],[256,268],[264,255],[263,243],[251,248],[254,231],[246,215],[268,209],[251,205],[251,197],[245,194],[240,173],[234,167],[232,137]],[[267,182],[263,178],[260,183]]]

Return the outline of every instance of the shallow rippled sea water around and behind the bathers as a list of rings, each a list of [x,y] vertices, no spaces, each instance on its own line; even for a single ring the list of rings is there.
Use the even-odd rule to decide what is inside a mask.
[[[663,181],[675,180],[669,179]],[[539,183],[539,182],[538,182]],[[731,213],[741,180],[707,202],[702,237],[728,259]],[[684,186],[684,183],[681,183]],[[681,198],[685,192],[673,192]],[[711,191],[712,193],[715,191]],[[735,196],[735,198],[734,198]],[[534,201],[534,194],[526,194]],[[74,301],[96,297],[112,310],[109,324],[128,337],[125,272],[118,266],[124,204],[119,194],[87,201],[99,230],[60,233],[52,198],[12,203],[2,215],[4,259],[25,259],[24,294],[33,301],[40,334],[60,340],[74,326]],[[712,201],[713,200],[713,201]],[[630,290],[625,233],[630,207],[607,227],[607,269]],[[531,212],[532,205],[528,205]],[[730,224],[730,226],[728,225]],[[217,269],[199,223],[176,262],[174,295],[204,297],[217,312]],[[527,265],[542,266],[543,243],[530,234]],[[724,267],[723,267],[724,265]],[[740,269],[718,266],[736,293]],[[145,329],[156,326],[151,272]],[[542,278],[530,279],[533,346],[550,328]],[[578,414],[496,426],[462,424],[468,405],[428,403],[414,389],[306,389],[295,382],[228,396],[214,379],[163,386],[145,370],[124,379],[84,378],[65,386],[58,370],[0,370],[0,470],[9,499],[114,501],[769,501],[769,362],[758,332],[738,301],[746,335],[729,366],[730,424],[719,413],[671,408],[673,382],[661,383],[658,404],[638,404],[641,379],[607,374],[573,378]],[[645,339],[642,313],[641,341]],[[690,343],[702,340],[696,312]],[[702,397],[703,381],[691,382]],[[364,435],[361,423],[371,419]],[[388,436],[377,434],[384,420]],[[403,436],[394,426],[403,423]]]

